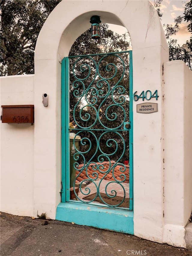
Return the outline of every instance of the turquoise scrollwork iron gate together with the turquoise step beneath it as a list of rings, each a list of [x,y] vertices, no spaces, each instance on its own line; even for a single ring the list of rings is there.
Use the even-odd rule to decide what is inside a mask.
[[[56,219],[133,233],[132,83],[132,51],[62,60],[62,188]],[[85,218],[82,209],[89,211]],[[106,218],[101,225],[99,214]]]

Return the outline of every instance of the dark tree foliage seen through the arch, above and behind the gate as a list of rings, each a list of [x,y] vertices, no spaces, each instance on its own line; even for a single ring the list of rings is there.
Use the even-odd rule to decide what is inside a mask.
[[[108,29],[107,24],[101,25],[101,32],[101,38],[94,41],[91,39],[90,29],[88,29],[74,42],[69,56],[118,52],[128,49],[129,42],[125,40],[126,35],[120,36],[112,32]],[[86,128],[81,131],[73,130],[75,133],[79,132],[83,139],[83,145],[80,146],[79,163],[98,162],[102,159],[109,161],[109,155],[110,159],[114,161],[124,162],[129,159],[128,132],[123,130],[123,123],[129,118],[129,98],[124,96],[129,95],[129,55],[121,54],[121,56],[122,59],[114,55],[105,56],[103,59],[103,56],[70,59],[70,123],[73,123],[77,129]],[[102,59],[101,62],[100,59]],[[117,67],[117,73],[113,77],[114,65]],[[98,71],[101,77],[98,76]],[[123,77],[121,77],[122,71],[125,71]],[[110,77],[113,78],[109,79]],[[119,80],[120,84],[118,84]],[[110,90],[116,88],[113,97],[111,94],[110,97],[106,97],[109,94],[109,88]],[[122,103],[124,100],[125,102]],[[116,102],[119,103],[119,106]],[[104,126],[113,129],[120,126],[120,131],[105,130],[104,132],[102,131]],[[94,130],[96,130],[95,134]],[[102,145],[102,148],[96,150],[99,144]],[[118,151],[116,151],[117,147]],[[102,152],[107,155],[104,156]]]

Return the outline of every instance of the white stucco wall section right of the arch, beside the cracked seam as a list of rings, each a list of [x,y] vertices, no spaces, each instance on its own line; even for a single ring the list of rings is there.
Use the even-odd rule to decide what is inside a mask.
[[[185,246],[192,211],[192,72],[182,61],[164,63],[164,237]]]

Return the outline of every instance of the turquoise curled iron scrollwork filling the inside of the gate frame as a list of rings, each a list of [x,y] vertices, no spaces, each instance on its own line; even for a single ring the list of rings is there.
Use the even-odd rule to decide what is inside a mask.
[[[86,172],[87,179],[79,183],[79,191],[85,197],[91,194],[88,186],[82,189],[85,183],[92,183],[97,189],[95,197],[89,201],[79,198],[74,190],[76,199],[91,203],[99,196],[106,206],[120,206],[125,200],[124,161],[129,158],[129,131],[125,129],[125,123],[130,121],[129,52],[72,56],[69,59],[70,122],[74,125],[69,130],[76,134],[73,167],[78,171],[73,187],[79,175]],[[75,144],[77,136],[81,137],[80,149]],[[108,163],[107,170],[104,162]],[[89,166],[93,170],[91,175]],[[117,166],[120,179],[114,175]],[[116,197],[116,189],[108,189],[110,184],[116,184],[124,191],[121,202],[115,205],[108,204],[100,194],[101,183],[108,173],[113,177],[105,186],[105,194],[109,198]]]

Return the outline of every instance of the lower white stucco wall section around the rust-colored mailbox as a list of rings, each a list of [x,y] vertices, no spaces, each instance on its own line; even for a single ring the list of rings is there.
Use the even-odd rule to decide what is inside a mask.
[[[25,104],[34,104],[34,75],[1,77],[0,106]],[[32,216],[34,125],[0,122],[0,157],[1,211]]]

